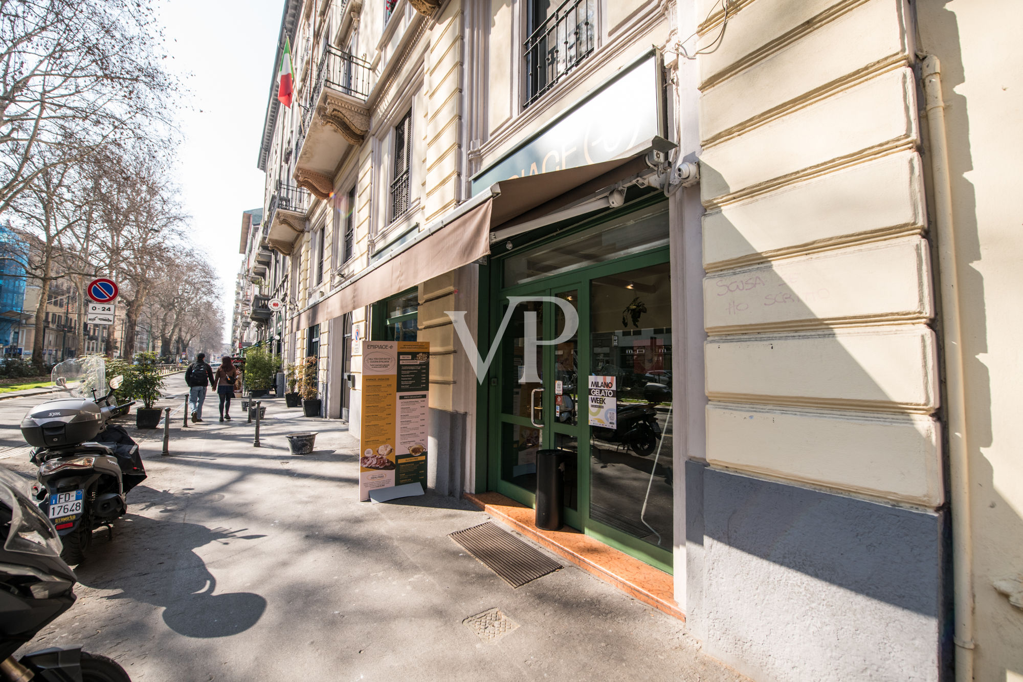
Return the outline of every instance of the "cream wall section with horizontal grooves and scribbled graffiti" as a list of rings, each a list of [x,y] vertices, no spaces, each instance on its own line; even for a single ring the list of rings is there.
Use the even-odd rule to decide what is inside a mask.
[[[940,400],[910,26],[899,0],[756,0],[700,57],[707,460],[933,509]]]

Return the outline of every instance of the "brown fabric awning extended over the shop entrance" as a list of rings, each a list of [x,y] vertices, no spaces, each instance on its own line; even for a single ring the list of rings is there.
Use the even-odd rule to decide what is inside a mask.
[[[324,323],[475,262],[490,253],[493,242],[620,206],[624,186],[656,175],[674,146],[655,137],[612,161],[492,184],[301,312],[292,329]]]

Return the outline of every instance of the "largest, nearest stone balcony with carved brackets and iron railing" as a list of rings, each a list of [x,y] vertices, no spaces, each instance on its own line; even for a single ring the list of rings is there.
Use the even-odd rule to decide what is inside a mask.
[[[369,130],[366,97],[372,70],[369,62],[329,46],[315,68],[316,78],[303,87],[299,102],[295,180],[317,199],[327,199],[338,162]]]

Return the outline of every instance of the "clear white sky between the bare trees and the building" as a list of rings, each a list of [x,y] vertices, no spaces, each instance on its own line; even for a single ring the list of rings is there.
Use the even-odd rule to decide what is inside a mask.
[[[190,90],[178,177],[192,240],[220,276],[230,333],[241,212],[263,206],[256,168],[284,0],[166,0],[169,69]],[[176,41],[176,42],[175,42]],[[225,339],[226,340],[226,339]]]

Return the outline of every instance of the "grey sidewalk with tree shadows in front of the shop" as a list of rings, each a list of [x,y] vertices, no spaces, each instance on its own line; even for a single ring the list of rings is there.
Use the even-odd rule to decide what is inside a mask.
[[[28,648],[81,643],[136,682],[745,679],[682,622],[563,560],[510,588],[447,538],[488,520],[460,500],[358,502],[343,423],[270,398],[253,447],[240,406],[216,421],[215,394],[208,421],[181,428],[183,381],[168,383],[171,457],[162,429],[141,438],[149,478],[113,541],[95,534],[79,601]],[[307,430],[315,452],[290,455],[284,434]],[[485,642],[462,622],[495,607],[518,627]]]

